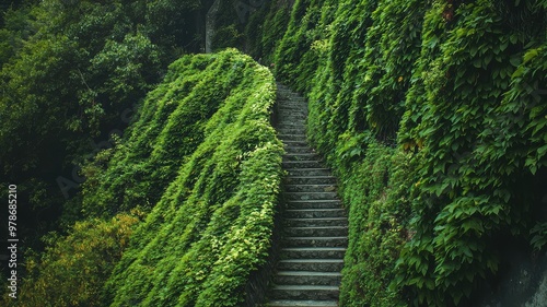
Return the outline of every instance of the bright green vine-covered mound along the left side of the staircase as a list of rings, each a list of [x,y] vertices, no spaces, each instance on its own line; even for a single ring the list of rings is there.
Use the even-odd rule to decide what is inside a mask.
[[[196,75],[197,67],[202,70]],[[230,49],[183,58],[171,71],[164,88],[143,105],[141,118],[150,120],[136,122],[123,144],[135,157],[121,153],[129,161],[119,164],[140,168],[143,154],[147,163],[160,163],[156,172],[175,168],[163,174],[174,177],[131,236],[104,299],[110,306],[238,306],[249,273],[267,257],[279,193],[283,150],[269,123],[275,81],[266,68]],[[155,139],[141,139],[146,131]],[[150,153],[133,151],[148,144]]]

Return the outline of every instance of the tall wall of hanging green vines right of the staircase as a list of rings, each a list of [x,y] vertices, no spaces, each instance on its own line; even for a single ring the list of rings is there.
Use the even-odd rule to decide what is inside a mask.
[[[545,250],[547,1],[271,2],[247,46],[340,179],[342,306],[470,304],[503,243]]]

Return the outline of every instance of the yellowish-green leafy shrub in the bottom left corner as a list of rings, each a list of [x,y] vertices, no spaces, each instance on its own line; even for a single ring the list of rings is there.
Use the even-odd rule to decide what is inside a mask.
[[[138,223],[138,216],[121,213],[78,222],[66,237],[48,236],[42,257],[25,262],[28,274],[16,300],[4,298],[2,306],[103,306],[98,298],[104,281]]]

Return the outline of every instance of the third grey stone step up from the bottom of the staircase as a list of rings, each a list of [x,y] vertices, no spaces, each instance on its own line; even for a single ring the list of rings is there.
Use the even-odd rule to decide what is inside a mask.
[[[274,276],[278,285],[334,285],[341,282],[339,272],[279,271]]]

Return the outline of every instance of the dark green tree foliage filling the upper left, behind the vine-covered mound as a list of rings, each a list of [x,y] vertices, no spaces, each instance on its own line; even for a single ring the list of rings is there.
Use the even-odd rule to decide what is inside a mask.
[[[79,219],[67,202],[78,166],[126,127],[170,62],[199,48],[200,1],[22,2],[3,8],[0,29],[0,182],[19,185],[20,214],[36,221],[20,235],[39,248],[63,208],[63,225]]]

